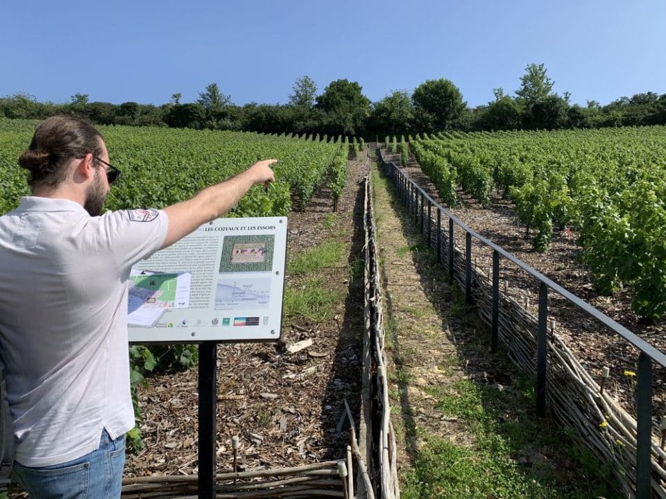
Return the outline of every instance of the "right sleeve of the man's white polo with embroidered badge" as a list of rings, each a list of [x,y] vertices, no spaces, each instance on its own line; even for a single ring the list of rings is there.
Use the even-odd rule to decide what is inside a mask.
[[[105,213],[103,225],[119,272],[148,258],[162,247],[169,216],[162,210],[135,209]]]

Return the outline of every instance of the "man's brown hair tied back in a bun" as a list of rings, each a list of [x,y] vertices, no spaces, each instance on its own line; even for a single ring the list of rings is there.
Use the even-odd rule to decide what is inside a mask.
[[[88,152],[101,155],[102,134],[87,121],[74,116],[51,116],[35,130],[33,140],[19,157],[19,165],[30,172],[28,182],[56,188],[69,172],[65,166],[72,158]]]

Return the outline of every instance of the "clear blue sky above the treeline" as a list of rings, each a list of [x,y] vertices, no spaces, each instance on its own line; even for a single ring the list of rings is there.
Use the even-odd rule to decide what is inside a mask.
[[[543,63],[572,103],[666,93],[664,0],[10,1],[0,96],[160,105],[210,82],[239,105],[359,82],[370,100],[447,78],[470,107]]]

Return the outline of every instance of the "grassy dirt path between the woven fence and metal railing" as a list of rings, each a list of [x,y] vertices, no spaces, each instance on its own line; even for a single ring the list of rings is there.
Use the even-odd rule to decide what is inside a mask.
[[[534,410],[533,380],[434,261],[373,168],[402,498],[619,497],[610,472]]]

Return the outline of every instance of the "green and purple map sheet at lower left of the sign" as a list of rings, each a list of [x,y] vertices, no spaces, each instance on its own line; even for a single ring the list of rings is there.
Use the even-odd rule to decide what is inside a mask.
[[[128,324],[150,327],[169,308],[189,307],[191,274],[142,272],[130,275]]]

